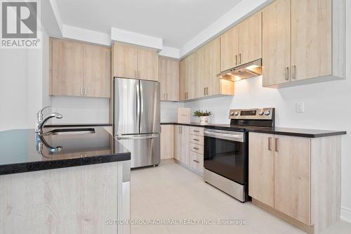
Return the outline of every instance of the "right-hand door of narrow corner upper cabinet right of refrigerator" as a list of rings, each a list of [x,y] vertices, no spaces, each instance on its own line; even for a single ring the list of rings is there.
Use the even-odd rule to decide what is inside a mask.
[[[179,100],[179,62],[166,60],[166,98],[167,100]]]

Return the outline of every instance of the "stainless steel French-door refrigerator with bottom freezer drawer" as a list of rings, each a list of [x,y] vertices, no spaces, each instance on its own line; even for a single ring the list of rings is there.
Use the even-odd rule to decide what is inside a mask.
[[[159,82],[114,77],[114,136],[131,151],[131,168],[160,162]]]

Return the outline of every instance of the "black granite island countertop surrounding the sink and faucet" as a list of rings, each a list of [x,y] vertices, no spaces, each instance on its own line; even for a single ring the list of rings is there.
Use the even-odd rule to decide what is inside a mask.
[[[0,131],[0,175],[131,159],[131,152],[105,129],[93,129],[91,134],[41,138],[34,129]]]

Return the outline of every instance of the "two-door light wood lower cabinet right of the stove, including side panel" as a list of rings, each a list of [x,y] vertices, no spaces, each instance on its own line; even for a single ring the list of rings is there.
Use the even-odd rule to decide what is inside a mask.
[[[340,219],[340,136],[249,133],[253,202],[307,233]]]

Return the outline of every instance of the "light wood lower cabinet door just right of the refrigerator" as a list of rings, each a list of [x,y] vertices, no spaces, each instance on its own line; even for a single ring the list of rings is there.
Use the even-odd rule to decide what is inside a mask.
[[[161,125],[161,160],[173,158],[173,124]]]

